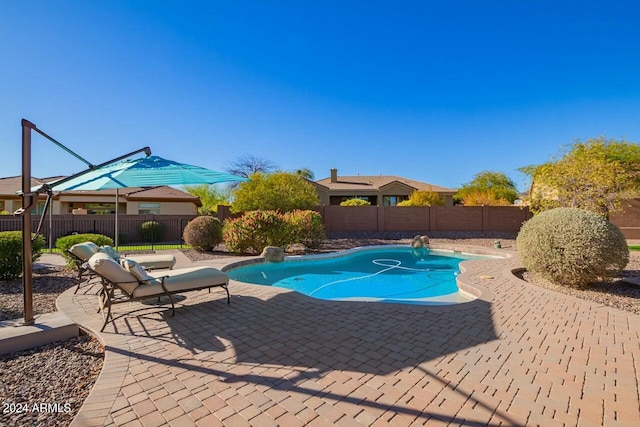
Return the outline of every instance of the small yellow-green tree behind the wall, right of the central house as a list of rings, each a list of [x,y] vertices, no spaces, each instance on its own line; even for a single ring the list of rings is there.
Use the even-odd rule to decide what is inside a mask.
[[[511,205],[518,198],[518,189],[504,173],[484,171],[464,184],[453,198],[465,206]]]

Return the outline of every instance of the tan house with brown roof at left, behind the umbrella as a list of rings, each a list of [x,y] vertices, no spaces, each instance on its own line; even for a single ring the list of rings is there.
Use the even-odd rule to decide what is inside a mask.
[[[32,178],[37,186],[63,177]],[[16,192],[22,188],[22,177],[0,178],[0,211],[13,213],[22,205]],[[42,195],[35,214],[42,213],[46,195]],[[197,215],[200,199],[184,191],[168,187],[125,188],[119,190],[118,210],[124,215]],[[69,191],[54,193],[51,212],[58,214],[114,214],[116,190]]]

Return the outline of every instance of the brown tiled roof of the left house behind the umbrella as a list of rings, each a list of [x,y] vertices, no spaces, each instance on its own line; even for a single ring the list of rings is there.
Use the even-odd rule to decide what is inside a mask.
[[[64,176],[50,177],[50,178],[31,178],[31,186],[44,184],[45,182],[55,181]],[[0,198],[18,198],[17,194],[22,188],[22,177],[14,176],[8,178],[0,178]],[[162,202],[191,202],[197,206],[201,206],[200,199],[185,191],[178,190],[166,185],[158,187],[134,187],[125,188],[119,190],[120,196],[125,197],[127,200],[154,200]],[[54,193],[60,194],[60,193]],[[115,196],[116,190],[99,190],[99,191],[65,191],[65,196],[82,195],[82,196]],[[55,198],[56,196],[54,196]]]

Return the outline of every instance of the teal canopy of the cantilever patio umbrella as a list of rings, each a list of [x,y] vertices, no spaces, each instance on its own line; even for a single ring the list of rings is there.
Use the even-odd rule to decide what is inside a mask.
[[[247,181],[247,178],[174,162],[158,156],[149,156],[127,159],[91,169],[59,185],[55,182],[49,183],[49,187],[53,191],[96,191],[162,185],[217,184],[232,181]]]

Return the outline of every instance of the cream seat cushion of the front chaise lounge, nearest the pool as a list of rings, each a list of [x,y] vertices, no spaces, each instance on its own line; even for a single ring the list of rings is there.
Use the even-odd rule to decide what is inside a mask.
[[[149,275],[154,277],[149,285],[141,285],[133,292],[134,297],[155,296],[162,294],[161,278],[169,293],[203,289],[211,286],[219,286],[229,282],[229,276],[213,267],[190,267],[170,271],[152,271]]]

